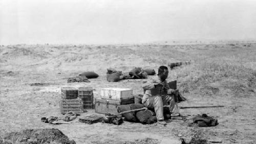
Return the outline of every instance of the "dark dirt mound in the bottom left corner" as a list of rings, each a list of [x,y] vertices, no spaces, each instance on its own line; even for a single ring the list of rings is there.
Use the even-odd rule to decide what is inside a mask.
[[[58,129],[26,129],[20,132],[6,134],[0,143],[70,143],[75,144],[74,140],[69,140],[68,136]]]

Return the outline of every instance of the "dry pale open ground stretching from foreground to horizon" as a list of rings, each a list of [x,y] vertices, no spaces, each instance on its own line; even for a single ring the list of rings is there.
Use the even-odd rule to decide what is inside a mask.
[[[23,129],[57,128],[77,143],[180,143],[180,138],[219,139],[222,143],[256,143],[256,44],[184,45],[7,45],[0,47],[0,137]],[[181,109],[182,115],[206,113],[218,118],[216,127],[188,127],[189,121],[168,121],[166,127],[124,122],[51,125],[40,117],[60,116],[62,86],[132,88],[143,93],[144,80],[106,82],[106,68],[123,72],[134,66],[157,68],[169,62],[190,61],[170,71],[188,101],[180,106],[224,105]],[[90,83],[67,83],[69,77],[93,70]],[[153,76],[150,76],[151,78]],[[33,85],[41,83],[43,85]],[[94,113],[89,110],[82,115]],[[230,140],[231,139],[231,140]]]

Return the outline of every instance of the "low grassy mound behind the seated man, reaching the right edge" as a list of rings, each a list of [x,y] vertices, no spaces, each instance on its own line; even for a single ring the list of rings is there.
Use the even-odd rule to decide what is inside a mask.
[[[252,69],[225,61],[198,62],[176,71],[176,77],[183,93],[212,95],[231,91],[230,94],[241,96],[254,93],[256,87]]]

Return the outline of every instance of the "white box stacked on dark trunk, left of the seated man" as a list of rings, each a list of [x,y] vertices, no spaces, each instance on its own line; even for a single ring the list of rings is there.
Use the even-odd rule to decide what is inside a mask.
[[[133,90],[129,88],[102,88],[100,98],[95,101],[95,112],[118,114],[117,106],[134,104]]]

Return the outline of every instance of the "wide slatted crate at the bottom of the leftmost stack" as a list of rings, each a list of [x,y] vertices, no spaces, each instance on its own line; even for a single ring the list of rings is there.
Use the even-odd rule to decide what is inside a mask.
[[[60,100],[60,112],[65,114],[69,111],[73,111],[76,114],[83,113],[81,99]]]

